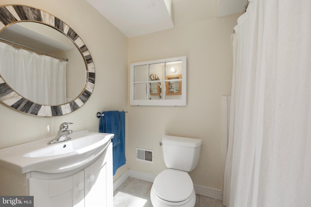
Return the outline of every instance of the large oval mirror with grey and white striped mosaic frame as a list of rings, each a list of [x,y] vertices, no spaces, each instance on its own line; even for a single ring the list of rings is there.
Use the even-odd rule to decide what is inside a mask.
[[[40,61],[46,59],[53,65],[54,62],[61,65],[61,69],[57,66],[57,72],[52,66],[51,73],[50,66],[44,62],[36,72],[30,72],[30,69],[25,73],[17,70],[17,75],[12,76],[12,68],[16,66],[2,64],[0,102],[17,111],[37,116],[59,116],[79,109],[91,95],[95,83],[94,64],[81,38],[62,20],[33,7],[5,5],[0,7],[0,13],[0,43],[5,44],[0,48],[10,48],[10,52],[23,55],[27,61],[28,56],[35,55]],[[24,58],[24,53],[28,55],[27,58]],[[5,57],[5,60],[11,58],[3,54],[1,57]],[[13,64],[19,63],[16,56],[12,59]],[[46,78],[42,78],[42,71],[48,73]],[[35,78],[37,74],[40,75]],[[18,86],[23,81],[28,81],[24,85],[32,83],[35,96],[25,89],[27,87]],[[34,84],[37,82],[49,82],[48,88],[37,92],[45,88]]]

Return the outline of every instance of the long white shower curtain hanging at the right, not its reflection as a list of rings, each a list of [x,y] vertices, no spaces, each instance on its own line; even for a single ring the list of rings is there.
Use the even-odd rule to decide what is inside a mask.
[[[227,207],[311,206],[311,0],[251,0],[234,34]]]

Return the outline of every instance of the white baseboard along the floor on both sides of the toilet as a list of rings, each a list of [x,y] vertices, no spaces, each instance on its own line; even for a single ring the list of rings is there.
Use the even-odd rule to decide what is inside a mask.
[[[113,190],[115,191],[121,184],[128,178],[134,177],[140,180],[148,181],[153,183],[156,175],[150,175],[142,172],[138,172],[135,170],[127,170],[123,175],[121,175],[114,183]],[[223,200],[223,193],[221,190],[212,189],[204,186],[193,185],[194,191],[196,194],[207,196],[210,198],[215,198],[218,200]]]

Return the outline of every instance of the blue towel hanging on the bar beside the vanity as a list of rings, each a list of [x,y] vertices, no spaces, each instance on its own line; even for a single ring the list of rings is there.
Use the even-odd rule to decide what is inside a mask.
[[[99,131],[112,133],[113,175],[119,167],[125,164],[125,112],[103,111]]]

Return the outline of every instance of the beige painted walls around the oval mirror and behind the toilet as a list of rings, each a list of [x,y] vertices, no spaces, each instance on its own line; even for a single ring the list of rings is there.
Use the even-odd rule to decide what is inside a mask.
[[[221,96],[231,90],[230,34],[239,15],[191,24],[176,18],[174,29],[128,39],[85,0],[0,0],[12,3],[50,12],[73,28],[93,57],[96,84],[86,104],[65,116],[35,117],[0,104],[0,148],[54,136],[62,122],[73,122],[74,131],[98,131],[97,111],[124,109],[127,164],[114,179],[129,168],[153,175],[165,169],[159,141],[170,134],[203,140],[199,165],[190,175],[196,185],[222,188]],[[187,56],[187,106],[129,106],[128,65],[178,56]],[[154,149],[155,163],[137,161],[136,147]]]

